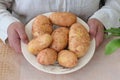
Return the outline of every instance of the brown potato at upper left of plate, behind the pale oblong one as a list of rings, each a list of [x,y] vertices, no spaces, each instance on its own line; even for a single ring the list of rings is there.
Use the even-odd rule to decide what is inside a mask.
[[[38,15],[32,24],[32,35],[37,37],[44,33],[52,33],[52,23],[47,16]]]

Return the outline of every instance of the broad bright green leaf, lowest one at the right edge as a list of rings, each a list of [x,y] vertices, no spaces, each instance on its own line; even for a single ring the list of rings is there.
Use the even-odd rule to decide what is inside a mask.
[[[110,55],[120,48],[120,39],[111,40],[105,47],[105,54]]]

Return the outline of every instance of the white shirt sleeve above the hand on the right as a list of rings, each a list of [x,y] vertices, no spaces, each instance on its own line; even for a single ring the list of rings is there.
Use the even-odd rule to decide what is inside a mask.
[[[101,21],[105,28],[120,26],[120,0],[106,0],[105,6],[94,13],[91,18]]]

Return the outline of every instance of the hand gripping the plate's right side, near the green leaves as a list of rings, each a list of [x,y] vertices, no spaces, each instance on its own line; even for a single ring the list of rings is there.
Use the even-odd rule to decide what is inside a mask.
[[[104,40],[104,25],[94,18],[88,20],[88,25],[90,27],[90,35],[95,38],[97,48]]]

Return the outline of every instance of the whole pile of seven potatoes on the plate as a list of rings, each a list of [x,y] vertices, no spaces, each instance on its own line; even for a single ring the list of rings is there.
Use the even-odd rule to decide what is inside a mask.
[[[53,26],[59,26],[53,29]],[[57,61],[63,67],[74,67],[90,46],[90,36],[77,17],[69,12],[38,15],[32,23],[33,39],[28,51],[40,64],[51,65]]]

